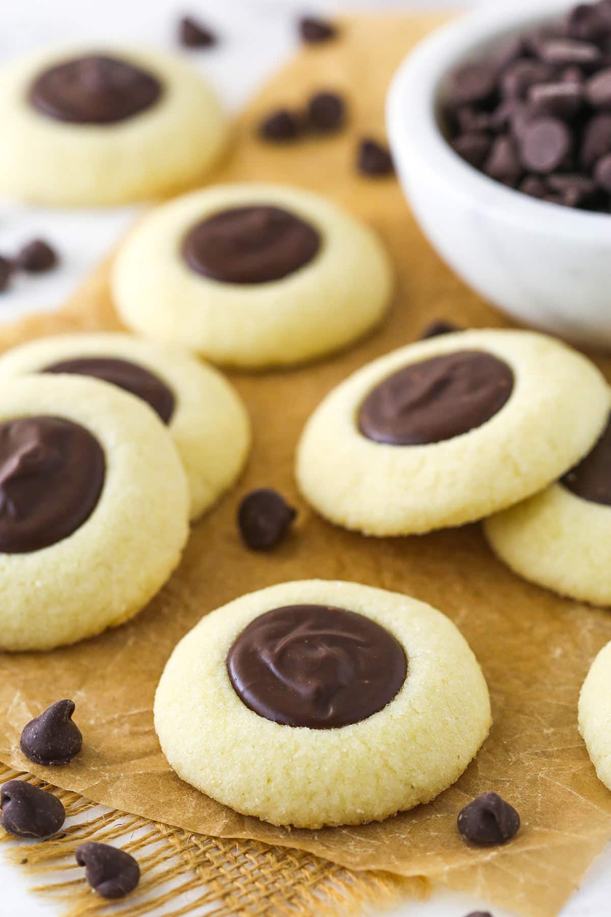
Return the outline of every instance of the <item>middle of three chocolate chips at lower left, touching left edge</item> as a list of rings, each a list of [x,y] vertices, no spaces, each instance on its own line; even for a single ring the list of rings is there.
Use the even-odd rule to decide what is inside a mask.
[[[8,780],[0,790],[0,824],[18,837],[50,837],[66,820],[66,811],[48,790],[25,780]]]

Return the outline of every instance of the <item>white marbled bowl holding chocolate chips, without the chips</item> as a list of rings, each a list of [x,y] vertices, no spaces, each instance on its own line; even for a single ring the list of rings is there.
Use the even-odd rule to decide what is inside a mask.
[[[476,293],[521,323],[611,348],[611,215],[546,204],[487,178],[453,151],[436,118],[444,78],[455,65],[570,6],[567,0],[495,2],[439,29],[395,75],[387,128],[422,230]]]

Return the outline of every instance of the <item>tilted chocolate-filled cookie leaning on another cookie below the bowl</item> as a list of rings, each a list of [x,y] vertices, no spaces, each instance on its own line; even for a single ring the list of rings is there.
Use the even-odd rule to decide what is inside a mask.
[[[432,337],[369,363],[324,399],[301,436],[300,491],[366,535],[464,525],[571,468],[609,403],[595,366],[551,337]]]

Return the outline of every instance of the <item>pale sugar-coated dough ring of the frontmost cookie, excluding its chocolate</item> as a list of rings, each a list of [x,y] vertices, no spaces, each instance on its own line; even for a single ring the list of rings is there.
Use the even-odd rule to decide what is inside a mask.
[[[383,709],[349,725],[310,728],[245,705],[228,673],[230,649],[260,615],[294,604],[364,615],[403,647],[407,677]],[[288,657],[292,669],[294,659],[299,668],[314,655],[322,695],[333,663],[327,639],[319,629]],[[284,646],[271,646],[267,675],[275,658],[282,676]],[[237,812],[309,828],[379,821],[430,801],[460,777],[490,722],[486,681],[448,618],[408,596],[338,581],[282,583],[207,615],[174,649],[155,698],[159,741],[181,779]]]

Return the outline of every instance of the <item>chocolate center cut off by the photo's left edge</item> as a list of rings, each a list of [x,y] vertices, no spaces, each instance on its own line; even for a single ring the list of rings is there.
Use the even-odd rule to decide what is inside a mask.
[[[63,417],[0,424],[0,552],[26,554],[67,538],[93,513],[104,451]]]

